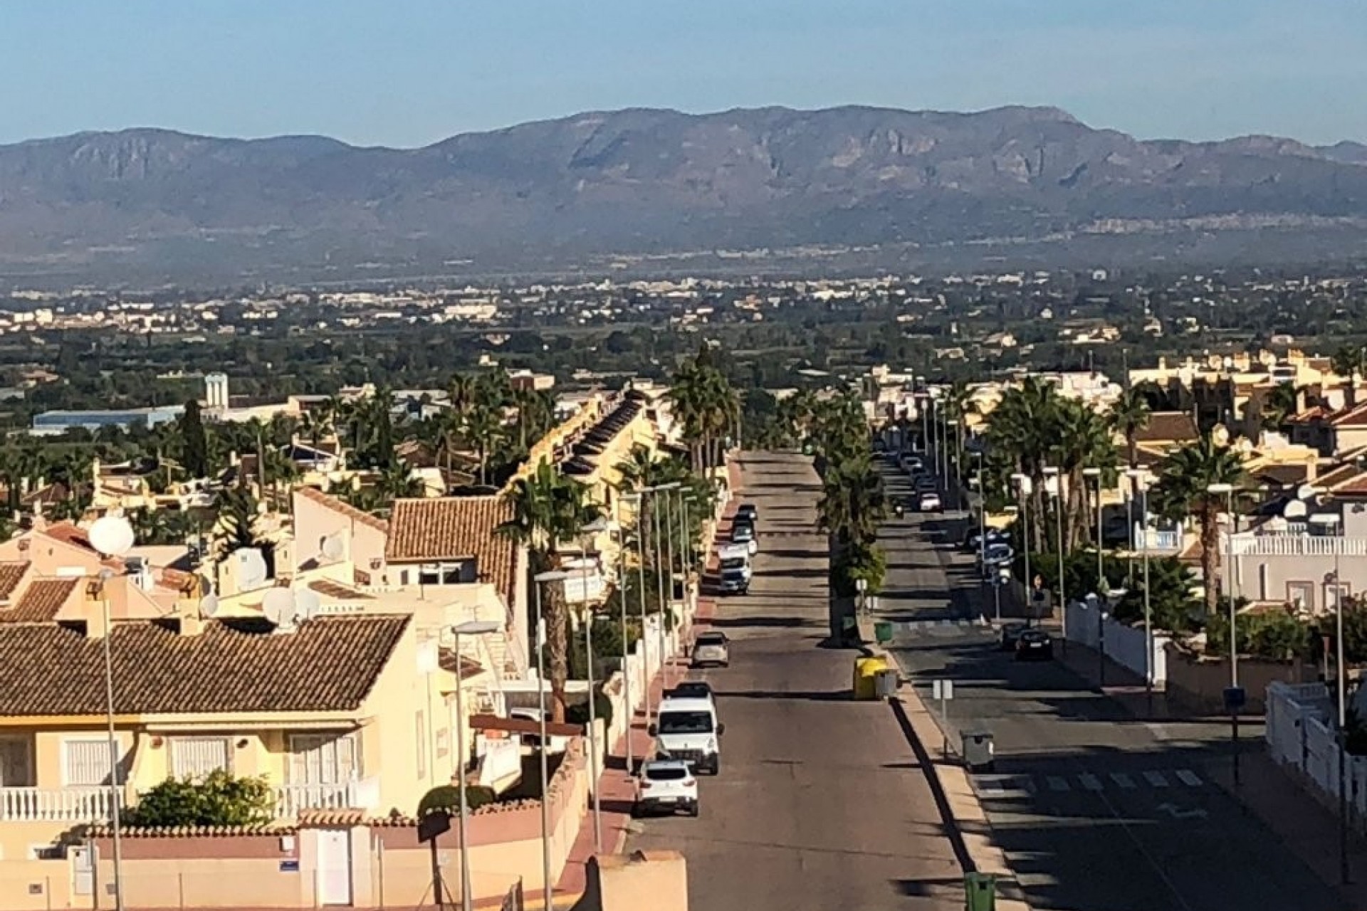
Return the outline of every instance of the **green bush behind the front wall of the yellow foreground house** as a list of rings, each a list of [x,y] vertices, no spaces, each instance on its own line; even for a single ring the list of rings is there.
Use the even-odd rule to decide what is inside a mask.
[[[131,828],[253,826],[275,818],[275,792],[265,779],[211,772],[202,779],[167,779],[138,796],[124,814]]]

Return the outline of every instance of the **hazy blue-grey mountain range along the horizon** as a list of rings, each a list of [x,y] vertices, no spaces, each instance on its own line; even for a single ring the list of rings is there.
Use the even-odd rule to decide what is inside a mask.
[[[1333,232],[1367,145],[1141,141],[1057,108],[625,109],[421,149],[165,130],[0,146],[0,273],[539,269],[715,250]]]

